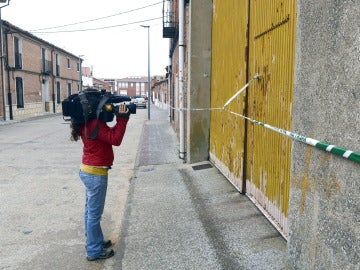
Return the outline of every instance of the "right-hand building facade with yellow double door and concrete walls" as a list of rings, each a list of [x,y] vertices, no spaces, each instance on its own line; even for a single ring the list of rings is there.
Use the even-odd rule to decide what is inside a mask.
[[[290,269],[359,268],[360,4],[163,2],[180,156],[263,211]]]

